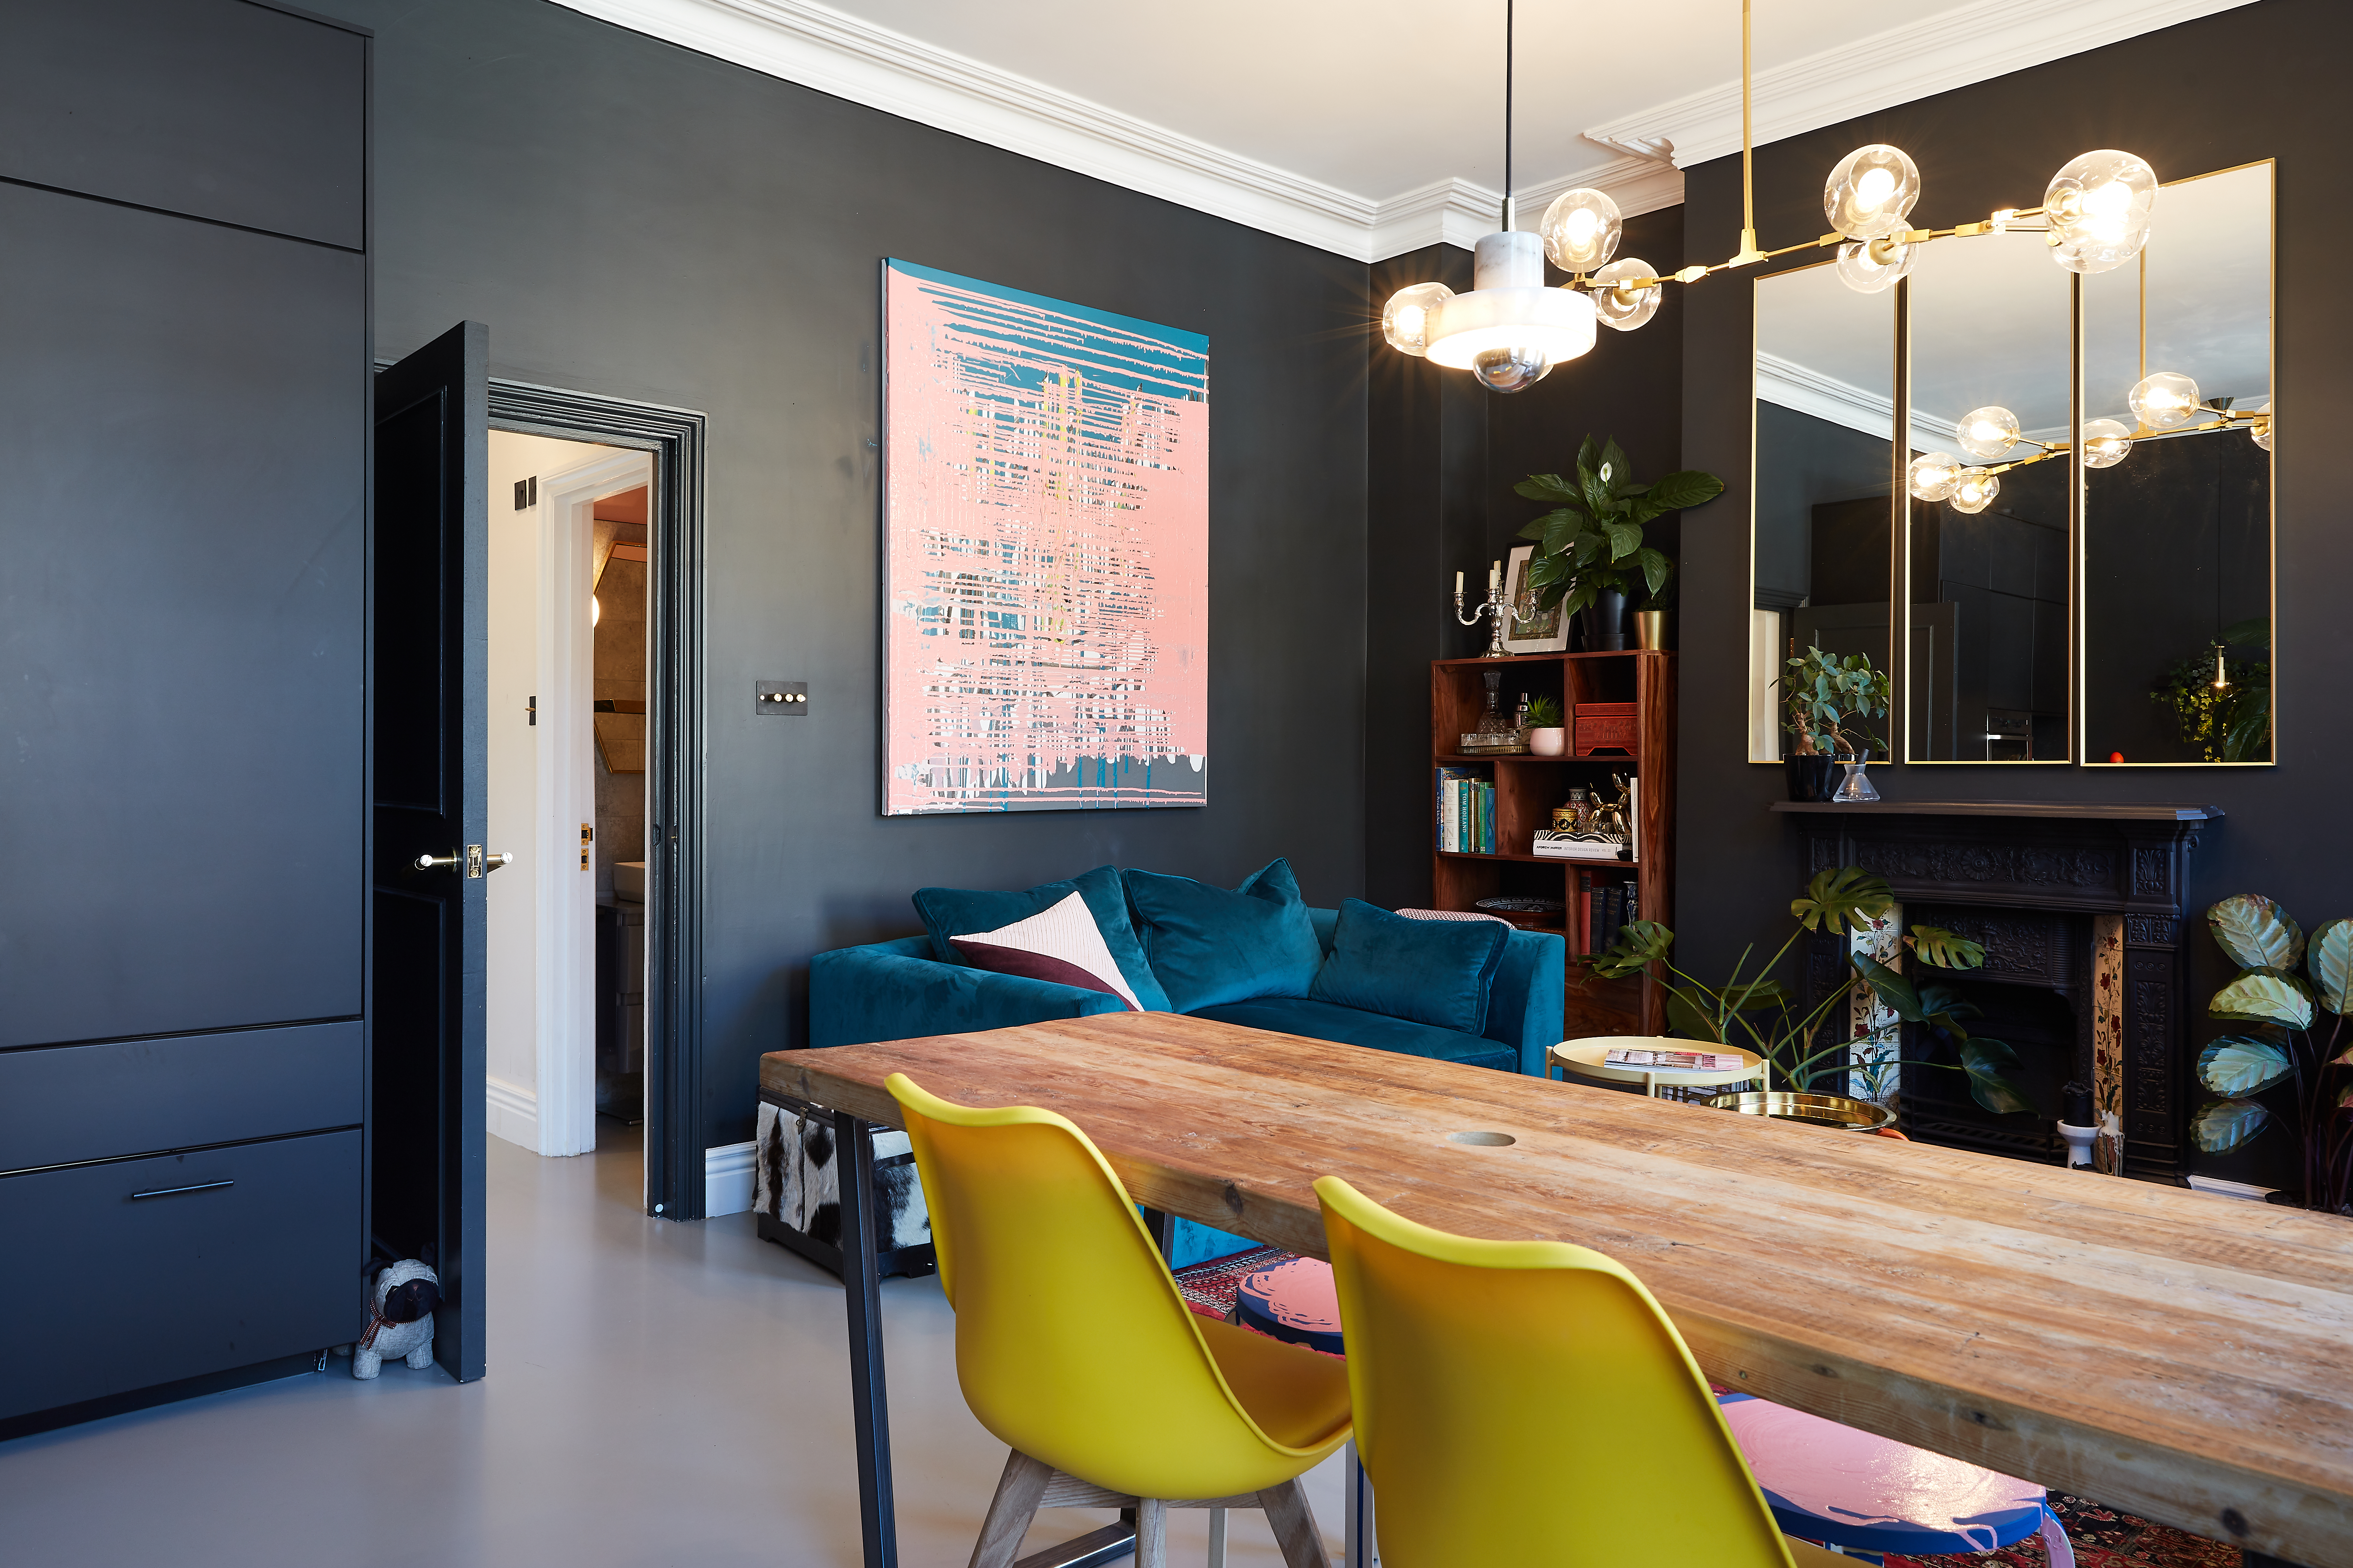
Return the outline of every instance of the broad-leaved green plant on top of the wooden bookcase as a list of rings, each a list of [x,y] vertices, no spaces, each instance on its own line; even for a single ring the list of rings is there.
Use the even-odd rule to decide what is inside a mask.
[[[1657,602],[1675,574],[1675,562],[1642,543],[1642,527],[1666,512],[1715,501],[1725,482],[1687,468],[1652,484],[1635,484],[1619,444],[1614,440],[1598,444],[1588,435],[1577,449],[1574,477],[1539,473],[1513,489],[1529,501],[1553,505],[1520,529],[1520,538],[1537,541],[1537,555],[1527,562],[1527,585],[1537,592],[1537,609],[1546,611],[1567,599],[1567,611],[1577,614],[1602,590],[1626,592],[1635,578]]]

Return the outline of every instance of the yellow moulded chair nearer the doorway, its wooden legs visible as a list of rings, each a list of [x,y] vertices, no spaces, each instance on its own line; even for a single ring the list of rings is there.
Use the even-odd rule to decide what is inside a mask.
[[[1064,1117],[951,1105],[901,1072],[887,1086],[932,1211],[965,1403],[1014,1450],[974,1568],[1012,1563],[1040,1507],[1136,1509],[1139,1568],[1165,1563],[1169,1507],[1261,1507],[1289,1568],[1329,1568],[1299,1476],[1348,1439],[1341,1363],[1191,1312],[1120,1178]]]

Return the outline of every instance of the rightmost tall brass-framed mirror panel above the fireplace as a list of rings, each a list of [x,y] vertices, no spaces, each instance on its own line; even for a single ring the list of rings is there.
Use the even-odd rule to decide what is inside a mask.
[[[2082,280],[2089,764],[2273,759],[2268,162],[2172,181]]]

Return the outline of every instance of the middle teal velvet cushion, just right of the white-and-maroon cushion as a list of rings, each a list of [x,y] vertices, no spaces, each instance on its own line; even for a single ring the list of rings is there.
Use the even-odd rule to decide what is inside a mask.
[[[1306,997],[1315,983],[1322,943],[1289,860],[1261,865],[1231,893],[1160,872],[1120,877],[1144,926],[1144,954],[1174,1011]]]

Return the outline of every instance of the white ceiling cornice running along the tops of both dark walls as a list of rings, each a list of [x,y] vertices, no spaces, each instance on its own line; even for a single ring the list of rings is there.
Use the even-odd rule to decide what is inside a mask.
[[[1386,261],[1438,242],[1468,249],[1497,226],[1501,209],[1501,193],[1466,179],[1369,200],[814,0],[558,2],[699,54],[1355,261]],[[1927,21],[1762,73],[1758,141],[1835,125],[2249,2],[1972,0]],[[1739,82],[1626,115],[1588,136],[1605,143],[1664,136],[1675,146],[1675,162],[1715,158],[1739,148]],[[1678,169],[1621,155],[1525,186],[1522,221],[1532,223],[1534,214],[1574,186],[1607,190],[1628,216],[1682,200]]]

